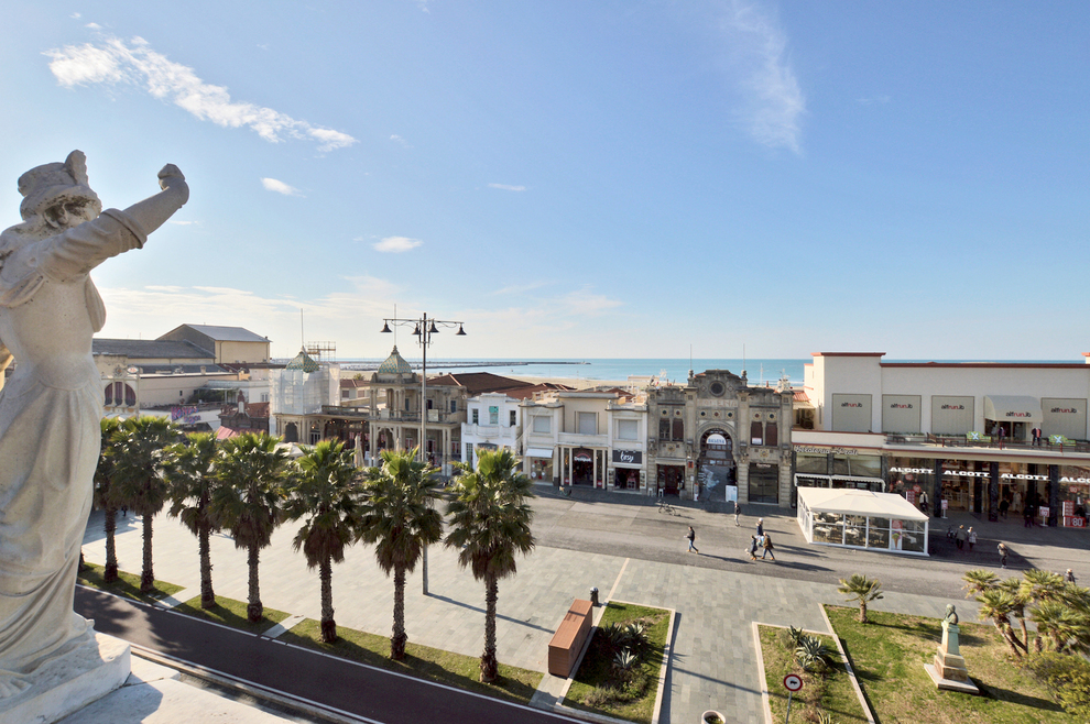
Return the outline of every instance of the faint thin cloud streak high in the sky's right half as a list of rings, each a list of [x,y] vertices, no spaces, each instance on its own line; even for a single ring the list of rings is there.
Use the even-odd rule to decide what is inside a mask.
[[[806,98],[792,69],[786,34],[774,18],[740,0],[729,6],[723,31],[742,96],[740,123],[762,145],[800,153]]]

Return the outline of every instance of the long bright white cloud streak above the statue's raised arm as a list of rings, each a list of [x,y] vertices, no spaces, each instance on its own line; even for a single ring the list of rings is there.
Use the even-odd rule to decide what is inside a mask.
[[[233,101],[227,88],[205,83],[193,68],[173,63],[141,37],[128,44],[108,37],[97,45],[66,45],[45,55],[52,58],[50,70],[66,88],[128,83],[143,86],[154,98],[173,102],[203,121],[225,128],[246,127],[272,143],[288,138],[310,140],[325,152],[357,142],[347,133],[312,125],[271,108]]]

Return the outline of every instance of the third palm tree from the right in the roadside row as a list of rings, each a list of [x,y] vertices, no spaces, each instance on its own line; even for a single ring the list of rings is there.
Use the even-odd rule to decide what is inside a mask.
[[[321,580],[321,640],[337,640],[333,607],[333,564],[345,560],[345,548],[359,525],[360,489],[352,452],[341,442],[323,440],[296,461],[291,475],[284,514],[292,520],[306,517],[295,534],[295,550],[303,550],[309,569]]]

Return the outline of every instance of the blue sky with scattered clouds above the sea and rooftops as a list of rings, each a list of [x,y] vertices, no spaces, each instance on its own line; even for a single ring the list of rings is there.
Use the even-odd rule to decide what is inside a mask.
[[[20,2],[0,226],[87,154],[189,204],[108,337],[380,358],[1081,360],[1090,3]],[[415,348],[403,336],[402,348]]]

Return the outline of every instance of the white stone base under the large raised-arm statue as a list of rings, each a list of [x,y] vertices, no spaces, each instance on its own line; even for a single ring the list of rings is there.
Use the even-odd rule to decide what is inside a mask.
[[[129,678],[129,650],[119,638],[94,634],[22,677],[30,685],[0,699],[0,724],[51,724],[105,696]]]

